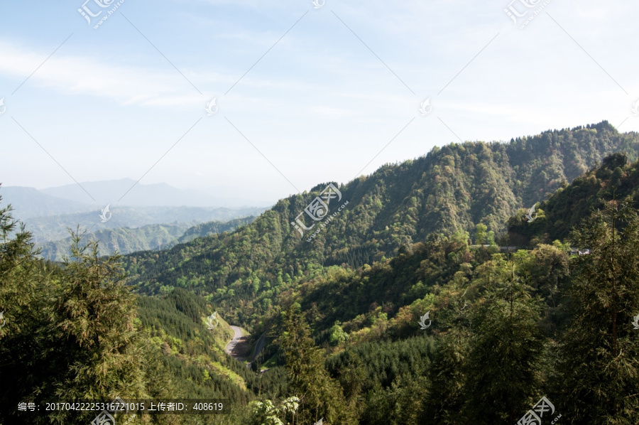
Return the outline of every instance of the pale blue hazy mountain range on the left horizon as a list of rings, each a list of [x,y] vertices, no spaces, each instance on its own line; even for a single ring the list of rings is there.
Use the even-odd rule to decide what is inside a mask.
[[[130,188],[133,183],[135,181],[125,178],[119,181],[80,184],[84,188],[94,190],[94,193],[99,192],[96,189],[101,189],[100,193],[106,195],[119,193],[121,196],[126,193],[125,188]],[[86,203],[81,200],[86,200],[89,197],[77,184],[43,190],[1,185],[0,196],[4,203],[11,204],[14,216],[26,223],[27,229],[33,233],[34,241],[40,244],[67,238],[69,236],[67,227],[75,229],[77,225],[80,225],[82,230],[89,232],[117,227],[133,229],[146,225],[177,225],[180,229],[186,230],[188,227],[205,222],[227,222],[236,218],[256,216],[266,210],[263,207],[161,206],[162,202],[182,203],[185,201],[193,203],[195,198],[198,198],[198,203],[206,204],[212,202],[212,198],[194,190],[172,188],[163,183],[157,185],[138,183],[136,188],[138,188],[138,192],[132,190],[131,193],[139,194],[141,190],[144,195],[138,199],[139,203],[157,202],[158,204],[131,206],[121,203],[102,203],[99,205]],[[100,214],[107,205],[109,205],[111,215],[107,222],[103,222]],[[180,235],[174,236],[177,238]],[[139,247],[144,246],[146,246],[144,243],[139,245]],[[125,250],[124,252],[130,251]]]

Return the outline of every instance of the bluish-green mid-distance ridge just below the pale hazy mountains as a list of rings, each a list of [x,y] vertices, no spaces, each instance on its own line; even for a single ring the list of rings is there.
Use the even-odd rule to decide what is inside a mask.
[[[212,221],[188,227],[185,223],[175,225],[146,225],[137,228],[116,227],[89,232],[86,240],[99,242],[100,254],[111,255],[114,252],[129,254],[138,251],[159,251],[175,244],[194,240],[196,237],[232,232],[238,227],[253,222],[255,217],[244,217],[227,222]],[[71,237],[55,242],[36,244],[43,258],[61,261],[63,255],[70,254]]]

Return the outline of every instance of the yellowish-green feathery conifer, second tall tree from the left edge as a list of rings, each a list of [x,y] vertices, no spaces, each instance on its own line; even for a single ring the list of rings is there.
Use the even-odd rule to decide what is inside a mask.
[[[81,246],[72,233],[57,302],[69,373],[56,395],[70,399],[137,397],[143,392],[136,344],[136,296],[126,286],[120,257],[99,257],[97,242]]]

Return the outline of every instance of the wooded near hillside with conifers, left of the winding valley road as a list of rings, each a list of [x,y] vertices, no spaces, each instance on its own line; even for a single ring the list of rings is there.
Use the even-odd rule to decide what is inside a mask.
[[[44,411],[45,401],[109,402],[118,395],[224,399],[237,414],[215,423],[237,424],[257,394],[281,397],[286,380],[277,368],[262,378],[224,353],[233,332],[221,315],[207,329],[214,308],[204,298],[180,289],[138,298],[118,258],[99,257],[97,245],[81,245],[79,237],[65,267],[44,262],[16,224],[0,208],[0,424],[89,424],[99,411]],[[43,411],[18,411],[27,401]],[[175,421],[155,416],[153,423]]]

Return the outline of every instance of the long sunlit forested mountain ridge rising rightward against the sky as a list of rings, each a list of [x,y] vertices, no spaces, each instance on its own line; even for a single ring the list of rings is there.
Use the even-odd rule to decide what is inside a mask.
[[[545,131],[508,143],[466,142],[435,148],[427,156],[383,166],[339,187],[337,212],[313,230],[290,224],[327,183],[280,200],[251,225],[229,235],[198,240],[160,253],[126,257],[132,281],[148,294],[182,286],[236,306],[261,290],[307,274],[311,267],[354,267],[396,254],[432,232],[471,231],[482,223],[497,237],[508,217],[596,166],[615,151],[637,158],[639,134],[620,134],[608,122]],[[310,220],[306,217],[306,225]],[[256,283],[257,282],[257,283]],[[258,311],[261,311],[258,309]]]

